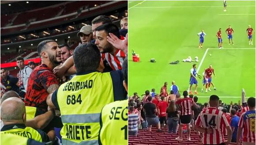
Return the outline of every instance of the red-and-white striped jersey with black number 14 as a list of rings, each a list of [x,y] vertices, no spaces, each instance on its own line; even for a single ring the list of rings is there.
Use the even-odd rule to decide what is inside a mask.
[[[196,120],[196,126],[205,129],[212,128],[212,134],[203,133],[203,144],[216,145],[225,142],[222,127],[230,126],[225,114],[215,107],[208,107],[200,112]]]

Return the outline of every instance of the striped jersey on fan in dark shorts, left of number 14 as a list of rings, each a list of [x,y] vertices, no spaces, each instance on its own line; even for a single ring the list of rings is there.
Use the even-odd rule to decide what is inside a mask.
[[[179,105],[181,109],[181,115],[191,115],[193,99],[192,98],[182,98],[176,101],[176,104]]]

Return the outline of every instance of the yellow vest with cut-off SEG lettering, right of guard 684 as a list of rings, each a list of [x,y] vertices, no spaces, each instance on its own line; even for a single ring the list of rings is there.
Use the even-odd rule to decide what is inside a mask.
[[[128,100],[115,101],[102,109],[100,145],[128,145]],[[117,135],[118,134],[118,135]]]

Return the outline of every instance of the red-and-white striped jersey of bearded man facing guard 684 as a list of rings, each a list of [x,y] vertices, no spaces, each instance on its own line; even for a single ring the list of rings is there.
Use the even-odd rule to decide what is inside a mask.
[[[120,49],[117,49],[116,53],[114,56],[110,53],[103,53],[102,54],[102,59],[106,60],[110,67],[113,70],[121,70],[122,69],[122,64],[124,62],[124,58],[126,57],[125,53],[121,51]]]

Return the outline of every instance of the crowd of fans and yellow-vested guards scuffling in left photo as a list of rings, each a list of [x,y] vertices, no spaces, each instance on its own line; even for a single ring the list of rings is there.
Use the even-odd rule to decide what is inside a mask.
[[[100,15],[75,50],[43,40],[41,64],[16,58],[18,77],[1,68],[1,144],[127,145],[127,17],[120,28]]]

